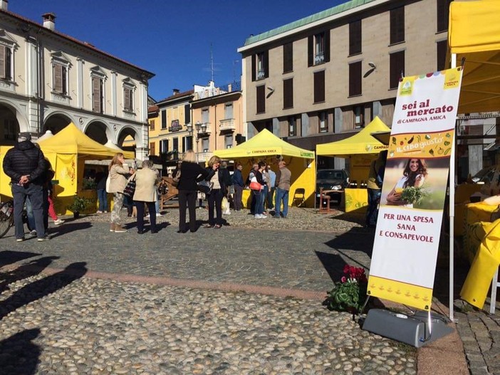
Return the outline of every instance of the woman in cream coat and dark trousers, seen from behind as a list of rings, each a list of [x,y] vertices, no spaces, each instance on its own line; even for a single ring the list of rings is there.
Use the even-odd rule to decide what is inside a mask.
[[[144,205],[150,211],[151,233],[157,233],[155,202],[158,200],[158,171],[152,169],[151,160],[142,162],[142,169],[135,172],[134,203],[137,208],[137,233],[144,233]],[[133,178],[133,177],[130,177]]]

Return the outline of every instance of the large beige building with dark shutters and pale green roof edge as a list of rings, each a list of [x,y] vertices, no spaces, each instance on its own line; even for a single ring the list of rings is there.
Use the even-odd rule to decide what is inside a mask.
[[[390,126],[401,75],[445,66],[450,1],[353,0],[247,38],[248,137],[266,128],[315,149],[375,116]]]

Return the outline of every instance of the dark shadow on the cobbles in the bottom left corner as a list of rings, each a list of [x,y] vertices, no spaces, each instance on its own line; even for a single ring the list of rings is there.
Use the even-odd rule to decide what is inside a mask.
[[[39,328],[26,329],[0,342],[1,374],[36,374],[41,349],[32,341],[39,334]]]

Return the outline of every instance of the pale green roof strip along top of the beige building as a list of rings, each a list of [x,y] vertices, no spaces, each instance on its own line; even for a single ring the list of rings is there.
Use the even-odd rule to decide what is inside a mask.
[[[256,36],[251,36],[246,38],[245,46],[249,46],[252,43],[256,43],[259,41],[264,41],[264,39],[271,38],[271,36],[276,36],[281,33],[286,33],[286,31],[291,31],[294,28],[299,28],[301,26],[305,26],[308,23],[313,23],[316,21],[320,21],[321,19],[326,19],[329,16],[333,16],[335,14],[340,14],[343,11],[348,11],[350,9],[354,9],[357,6],[361,6],[364,4],[371,3],[375,0],[350,0],[344,4],[340,4],[338,6],[333,6],[333,8],[326,9],[325,11],[318,12],[313,14],[312,16],[304,17],[303,19],[299,19],[297,21],[293,21],[291,23],[287,23],[286,25],[280,26],[278,28],[273,28],[272,30],[266,31],[265,33],[260,33]]]

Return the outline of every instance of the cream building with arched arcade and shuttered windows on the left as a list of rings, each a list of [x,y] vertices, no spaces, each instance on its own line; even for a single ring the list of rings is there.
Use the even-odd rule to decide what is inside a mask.
[[[154,74],[56,30],[56,16],[36,23],[0,0],[0,144],[16,134],[36,139],[73,122],[101,144],[135,140],[149,154],[147,85]]]

